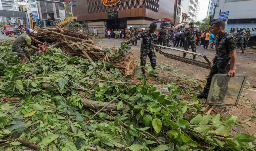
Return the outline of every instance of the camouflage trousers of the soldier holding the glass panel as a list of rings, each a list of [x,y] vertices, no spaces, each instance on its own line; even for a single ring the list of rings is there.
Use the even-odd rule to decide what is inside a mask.
[[[217,73],[222,73],[222,74],[227,74],[228,71],[230,70],[230,64],[229,65],[217,65],[217,63],[214,63],[214,65],[211,68],[211,71],[207,77],[207,82],[205,85],[206,89],[210,89],[211,82],[212,82],[212,77],[214,74]],[[216,79],[217,81],[214,81],[213,83],[216,83],[217,86],[220,88],[219,89],[219,98],[224,99],[226,96],[226,93],[228,91],[228,82],[230,80],[230,77],[219,77]]]

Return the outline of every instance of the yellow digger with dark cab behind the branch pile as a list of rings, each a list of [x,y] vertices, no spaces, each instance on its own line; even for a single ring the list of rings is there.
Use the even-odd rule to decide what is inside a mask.
[[[53,27],[53,20],[37,19],[35,20],[32,13],[30,13],[30,28],[39,29],[40,27]]]

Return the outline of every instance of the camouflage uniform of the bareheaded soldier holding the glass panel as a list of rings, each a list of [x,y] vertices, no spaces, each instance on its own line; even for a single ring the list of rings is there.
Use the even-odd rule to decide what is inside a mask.
[[[202,95],[208,95],[209,88],[211,86],[212,77],[214,74],[222,73],[227,74],[230,70],[230,51],[236,49],[236,39],[232,34],[225,31],[222,36],[216,38],[216,55],[213,62],[211,71],[207,77],[207,83],[204,87]],[[217,81],[217,85],[220,87],[219,98],[224,99],[228,90],[229,77],[223,77]],[[200,94],[198,94],[200,95]],[[197,95],[197,96],[198,96]]]

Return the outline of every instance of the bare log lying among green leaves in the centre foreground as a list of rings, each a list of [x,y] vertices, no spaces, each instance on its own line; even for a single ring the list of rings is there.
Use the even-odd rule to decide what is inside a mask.
[[[93,100],[88,100],[88,99],[83,99],[82,101],[83,101],[84,106],[92,108],[92,109],[96,109],[96,110],[100,110],[108,104],[108,102],[102,102],[102,105],[101,105],[101,104],[99,104],[98,101],[93,101]],[[125,107],[126,107],[126,105],[124,104],[120,110],[123,111],[125,109]],[[110,103],[102,111],[109,112],[109,110],[117,110],[117,103]]]

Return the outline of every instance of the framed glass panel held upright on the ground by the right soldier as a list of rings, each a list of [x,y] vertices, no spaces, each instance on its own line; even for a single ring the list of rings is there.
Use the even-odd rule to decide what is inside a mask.
[[[227,74],[214,75],[212,78],[208,104],[235,105],[240,98],[247,75],[228,77]]]

